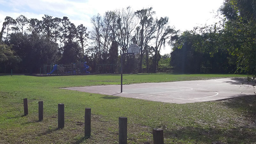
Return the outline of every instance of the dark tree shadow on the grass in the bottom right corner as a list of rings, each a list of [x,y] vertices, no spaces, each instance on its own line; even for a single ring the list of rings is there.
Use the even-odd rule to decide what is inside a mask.
[[[225,140],[222,142],[226,143],[254,143],[256,136],[256,96],[250,95],[223,100],[220,105],[224,108],[234,108],[235,111],[240,111],[239,113],[246,117],[247,122],[243,123],[243,119],[239,122],[239,118],[237,118],[238,121],[233,124],[233,128],[226,126],[225,123],[229,123],[228,121],[223,121],[216,127],[199,125],[169,129],[164,130],[164,137],[178,141],[192,141],[192,143],[213,143],[221,140]]]

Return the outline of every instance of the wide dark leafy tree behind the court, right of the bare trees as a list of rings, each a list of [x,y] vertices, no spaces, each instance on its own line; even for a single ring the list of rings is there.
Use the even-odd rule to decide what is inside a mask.
[[[221,28],[205,26],[171,37],[171,66],[181,73],[234,72]]]

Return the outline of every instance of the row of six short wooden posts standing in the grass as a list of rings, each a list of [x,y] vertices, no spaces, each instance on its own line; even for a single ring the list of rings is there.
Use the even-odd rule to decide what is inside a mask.
[[[24,115],[28,115],[28,99],[23,99]],[[43,101],[38,102],[38,121],[44,120]],[[119,117],[119,144],[127,144],[127,117]],[[58,104],[58,128],[64,128],[64,104]],[[91,136],[91,108],[85,108],[84,114],[84,137]],[[153,129],[154,144],[164,144],[163,129]]]

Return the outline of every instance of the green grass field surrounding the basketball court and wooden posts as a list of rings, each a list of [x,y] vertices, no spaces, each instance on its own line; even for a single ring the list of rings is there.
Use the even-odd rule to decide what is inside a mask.
[[[245,75],[124,75],[124,84],[202,80]],[[174,104],[59,89],[120,84],[120,75],[0,76],[0,143],[118,143],[118,117],[128,117],[128,143],[153,142],[164,129],[165,143],[255,143],[255,96]],[[28,116],[23,116],[28,98]],[[44,121],[38,101],[44,101]],[[65,128],[58,126],[65,104]],[[92,136],[84,139],[84,108],[92,108]]]

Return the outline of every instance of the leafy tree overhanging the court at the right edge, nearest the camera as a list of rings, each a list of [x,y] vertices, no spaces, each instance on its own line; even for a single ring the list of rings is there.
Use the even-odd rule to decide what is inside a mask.
[[[223,39],[236,72],[256,77],[256,2],[255,0],[226,0],[220,8],[224,15]]]

